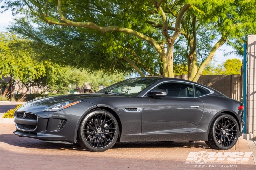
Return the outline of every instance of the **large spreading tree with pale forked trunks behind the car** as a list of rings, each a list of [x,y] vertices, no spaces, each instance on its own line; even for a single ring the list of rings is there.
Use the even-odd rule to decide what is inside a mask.
[[[49,25],[55,25],[56,30],[62,29],[63,26],[72,28],[75,30],[70,35],[74,36],[73,41],[80,40],[77,39],[79,37],[76,36],[77,34],[91,32],[93,36],[87,37],[90,44],[83,50],[87,54],[94,54],[97,60],[90,58],[91,63],[84,66],[93,66],[98,70],[107,65],[109,69],[106,71],[111,71],[112,67],[118,68],[118,71],[125,71],[121,66],[126,65],[124,69],[129,68],[128,71],[132,71],[131,68],[133,68],[141,76],[144,76],[145,72],[152,72],[156,75],[159,73],[173,77],[174,58],[179,57],[174,56],[174,47],[177,41],[182,39],[180,37],[184,37],[186,43],[183,47],[186,49],[188,61],[186,66],[188,66],[189,80],[193,81],[198,80],[220,46],[226,42],[233,45],[232,42],[252,33],[256,18],[254,10],[256,3],[247,0],[151,0],[151,2],[142,0],[136,3],[116,0],[40,2],[6,0],[5,2],[6,6],[3,8],[6,10],[11,8],[14,14],[22,13],[36,24],[43,24],[42,21],[44,21]],[[100,35],[100,32],[104,35]],[[210,47],[207,56],[202,58],[202,61],[198,61],[197,51],[201,49],[197,50],[197,38],[200,37],[198,33],[204,35],[203,32],[209,33],[212,39],[218,38],[218,40]],[[67,32],[62,33],[60,36],[67,36]],[[204,37],[206,36],[200,38]],[[97,46],[98,42],[102,42],[102,47]],[[48,41],[47,44],[51,42]],[[65,46],[70,45],[65,44]],[[75,48],[73,44],[71,46],[67,51],[62,51],[63,46],[59,46],[61,48],[54,53],[67,54],[68,52],[69,56],[78,58],[77,63],[81,63],[83,57],[76,53],[76,50],[79,51],[81,47]],[[45,46],[44,49],[46,48]],[[148,55],[141,55],[145,50]],[[144,58],[152,57],[150,50],[158,53],[159,57],[151,58],[147,62]],[[71,59],[74,58],[69,57],[68,61]]]

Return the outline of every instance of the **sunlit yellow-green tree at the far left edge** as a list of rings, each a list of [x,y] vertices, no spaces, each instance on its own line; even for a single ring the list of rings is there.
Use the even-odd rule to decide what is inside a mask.
[[[0,34],[0,77],[10,76],[8,86],[12,86],[14,92],[15,81],[26,87],[26,91],[21,97],[24,97],[30,87],[38,86],[43,88],[53,78],[49,68],[52,67],[47,61],[37,60],[37,54],[29,47],[29,41],[13,34]],[[52,75],[52,76],[51,76]]]

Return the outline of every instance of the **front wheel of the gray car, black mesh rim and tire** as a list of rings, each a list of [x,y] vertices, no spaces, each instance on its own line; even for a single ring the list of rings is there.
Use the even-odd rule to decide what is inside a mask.
[[[116,118],[108,111],[95,109],[80,122],[77,142],[92,152],[103,152],[115,144],[119,127]]]

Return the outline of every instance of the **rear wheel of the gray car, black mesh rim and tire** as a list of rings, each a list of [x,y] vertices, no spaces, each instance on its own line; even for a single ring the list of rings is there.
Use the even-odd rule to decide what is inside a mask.
[[[229,115],[217,116],[211,123],[206,145],[212,149],[227,150],[236,145],[239,137],[239,124]]]

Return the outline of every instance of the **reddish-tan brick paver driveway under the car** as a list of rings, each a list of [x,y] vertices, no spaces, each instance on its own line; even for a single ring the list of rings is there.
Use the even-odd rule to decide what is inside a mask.
[[[7,169],[256,169],[253,157],[246,164],[185,164],[190,152],[223,152],[204,142],[125,142],[106,152],[88,152],[81,147],[46,143],[13,134],[13,124],[0,124],[0,170]],[[247,141],[225,152],[251,152]],[[195,167],[196,165],[196,167]],[[214,167],[207,167],[207,166]],[[223,167],[219,167],[219,166]]]

